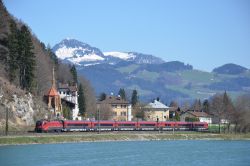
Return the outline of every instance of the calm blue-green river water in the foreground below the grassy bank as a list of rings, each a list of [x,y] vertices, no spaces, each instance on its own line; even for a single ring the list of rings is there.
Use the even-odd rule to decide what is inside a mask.
[[[250,141],[131,141],[0,146],[0,166],[250,166]]]

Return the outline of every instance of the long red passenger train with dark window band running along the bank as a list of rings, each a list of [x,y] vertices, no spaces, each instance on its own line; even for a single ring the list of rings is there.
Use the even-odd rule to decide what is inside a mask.
[[[203,131],[208,129],[205,122],[155,122],[155,121],[73,121],[39,120],[36,132],[67,131]]]

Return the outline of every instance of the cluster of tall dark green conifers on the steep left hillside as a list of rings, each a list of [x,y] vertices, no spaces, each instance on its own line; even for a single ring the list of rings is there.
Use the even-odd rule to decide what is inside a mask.
[[[7,46],[9,54],[5,62],[10,82],[17,81],[22,89],[31,91],[34,87],[36,62],[28,27],[22,25],[18,28],[15,21],[11,20]]]

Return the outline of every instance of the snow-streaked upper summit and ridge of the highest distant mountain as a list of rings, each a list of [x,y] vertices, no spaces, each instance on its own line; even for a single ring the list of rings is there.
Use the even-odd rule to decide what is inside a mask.
[[[117,64],[121,61],[128,61],[137,64],[160,64],[164,61],[153,55],[136,52],[102,52],[96,47],[75,39],[64,39],[56,44],[53,49],[56,56],[66,63],[76,65],[95,65],[100,63]]]

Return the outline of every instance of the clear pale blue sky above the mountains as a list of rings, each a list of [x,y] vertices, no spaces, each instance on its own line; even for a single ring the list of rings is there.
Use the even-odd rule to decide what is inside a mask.
[[[250,68],[249,0],[4,0],[44,43],[70,37],[211,71]]]

